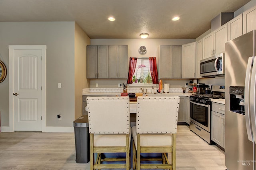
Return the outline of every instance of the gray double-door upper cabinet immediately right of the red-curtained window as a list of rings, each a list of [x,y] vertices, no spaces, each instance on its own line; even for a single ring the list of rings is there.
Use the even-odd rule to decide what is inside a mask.
[[[182,46],[160,45],[158,48],[158,78],[181,78]]]

